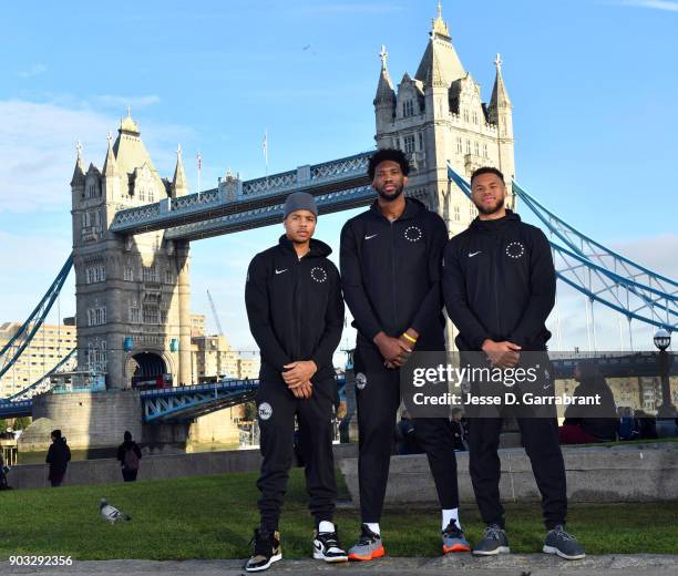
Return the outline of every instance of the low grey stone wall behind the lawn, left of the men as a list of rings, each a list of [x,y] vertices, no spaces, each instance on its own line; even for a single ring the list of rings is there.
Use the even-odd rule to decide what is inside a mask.
[[[335,444],[335,459],[356,457],[357,444]],[[198,452],[192,454],[144,455],[137,480],[166,480],[229,472],[256,472],[261,456],[259,450]],[[8,481],[13,488],[42,488],[50,485],[47,464],[13,466]],[[114,459],[71,462],[63,485],[107,484],[122,482],[120,462]]]

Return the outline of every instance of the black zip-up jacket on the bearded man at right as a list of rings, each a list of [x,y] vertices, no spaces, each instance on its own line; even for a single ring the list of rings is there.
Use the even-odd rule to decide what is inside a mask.
[[[486,338],[545,350],[556,289],[551,247],[544,233],[517,214],[507,209],[496,220],[475,218],[451,238],[442,284],[460,350],[480,350]]]

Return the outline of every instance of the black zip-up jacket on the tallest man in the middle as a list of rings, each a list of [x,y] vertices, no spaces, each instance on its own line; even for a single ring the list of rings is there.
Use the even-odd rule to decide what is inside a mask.
[[[440,268],[446,241],[442,218],[413,198],[392,223],[374,200],[343,225],[343,297],[361,342],[374,346],[380,331],[398,338],[414,328],[418,350],[444,350]]]

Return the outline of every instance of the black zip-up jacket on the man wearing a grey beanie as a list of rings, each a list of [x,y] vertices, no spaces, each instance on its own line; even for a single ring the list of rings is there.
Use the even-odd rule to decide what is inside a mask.
[[[285,364],[314,360],[312,382],[335,376],[332,356],[343,328],[343,300],[332,249],[310,240],[298,258],[282,235],[279,244],[257,254],[247,271],[245,306],[249,329],[261,352],[261,380],[279,380]]]

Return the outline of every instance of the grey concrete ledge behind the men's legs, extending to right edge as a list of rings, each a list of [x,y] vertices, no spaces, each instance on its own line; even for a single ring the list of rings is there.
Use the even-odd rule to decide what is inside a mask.
[[[500,450],[500,492],[505,502],[541,501],[530,459],[523,449]],[[678,500],[678,443],[609,448],[563,448],[571,502],[654,502]],[[469,453],[458,452],[459,494],[474,503]],[[358,460],[339,462],[351,497],[360,502]],[[391,457],[387,504],[436,504],[427,456]]]

